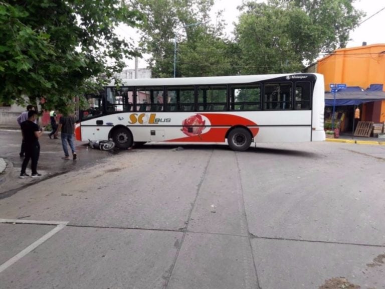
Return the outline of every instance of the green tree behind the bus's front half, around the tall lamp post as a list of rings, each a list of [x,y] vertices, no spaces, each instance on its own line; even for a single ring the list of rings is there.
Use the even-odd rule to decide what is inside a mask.
[[[150,54],[154,77],[173,76],[175,36],[176,76],[231,72],[222,12],[218,12],[215,25],[209,23],[214,0],[132,0],[131,5],[146,16],[140,27],[141,48]]]

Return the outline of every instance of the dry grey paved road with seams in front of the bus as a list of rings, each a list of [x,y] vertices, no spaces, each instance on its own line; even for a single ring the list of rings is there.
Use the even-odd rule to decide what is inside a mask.
[[[0,287],[385,288],[385,146],[183,148],[107,155],[0,200]]]

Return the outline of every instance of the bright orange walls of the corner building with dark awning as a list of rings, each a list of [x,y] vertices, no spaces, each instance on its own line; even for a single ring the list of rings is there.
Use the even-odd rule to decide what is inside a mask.
[[[382,91],[385,91],[385,44],[337,49],[308,67],[307,72],[324,75],[325,91],[330,91],[331,83],[363,89],[371,84],[382,84]],[[384,122],[385,100],[363,103],[361,120]]]

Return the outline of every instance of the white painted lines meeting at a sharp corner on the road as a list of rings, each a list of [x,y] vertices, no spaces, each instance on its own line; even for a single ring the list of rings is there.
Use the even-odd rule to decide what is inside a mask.
[[[47,241],[49,238],[51,238],[53,235],[55,235],[57,232],[62,230],[68,222],[56,222],[56,221],[34,221],[34,220],[18,220],[18,219],[0,219],[0,223],[3,224],[39,224],[39,225],[56,225],[55,228],[53,228],[51,231],[49,231],[47,234],[45,234],[40,239],[33,242],[31,245],[29,245],[27,248],[22,250],[19,254],[13,256],[11,259],[0,265],[0,273],[3,272],[8,267],[12,266],[14,263],[16,263],[18,260],[23,258],[25,255],[30,253],[31,251],[35,250],[38,246],[43,244],[45,241]]]

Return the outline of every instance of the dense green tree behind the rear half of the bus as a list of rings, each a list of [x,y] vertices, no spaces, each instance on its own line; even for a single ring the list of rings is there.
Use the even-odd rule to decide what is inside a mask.
[[[236,26],[240,73],[300,71],[325,49],[346,44],[362,13],[348,0],[249,1],[239,9]],[[314,6],[312,4],[316,3]],[[337,5],[331,5],[337,3]],[[340,7],[338,7],[340,5]],[[328,10],[333,9],[328,15]],[[322,11],[319,13],[318,10]],[[351,18],[334,18],[347,13]]]

